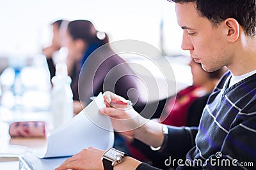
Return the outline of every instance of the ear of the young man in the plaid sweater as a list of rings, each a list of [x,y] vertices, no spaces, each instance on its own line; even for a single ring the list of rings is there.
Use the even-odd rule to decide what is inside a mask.
[[[227,28],[227,41],[234,43],[239,38],[240,27],[236,19],[227,18],[224,21],[225,27]]]

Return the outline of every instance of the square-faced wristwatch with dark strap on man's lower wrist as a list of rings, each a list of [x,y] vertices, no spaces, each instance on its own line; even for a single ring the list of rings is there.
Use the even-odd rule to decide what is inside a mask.
[[[109,148],[101,157],[103,166],[105,170],[113,170],[115,164],[122,162],[125,156],[128,156],[126,153],[116,150],[115,148]]]

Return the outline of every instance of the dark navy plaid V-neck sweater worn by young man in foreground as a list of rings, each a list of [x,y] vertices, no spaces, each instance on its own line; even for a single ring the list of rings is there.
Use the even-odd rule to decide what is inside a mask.
[[[170,159],[163,164],[177,169],[256,169],[256,74],[228,87],[230,77],[227,72],[213,90],[199,127],[168,127],[168,145],[161,152]],[[156,168],[142,163],[141,169]]]

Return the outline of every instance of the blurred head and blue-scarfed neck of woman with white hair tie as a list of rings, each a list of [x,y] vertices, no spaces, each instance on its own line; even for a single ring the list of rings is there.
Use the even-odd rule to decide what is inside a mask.
[[[81,68],[94,50],[109,43],[108,35],[105,32],[100,32],[101,36],[99,36],[100,33],[89,20],[71,21],[68,24],[66,33],[68,48],[67,64],[70,65],[70,68],[74,64],[78,64],[79,66],[77,67]],[[76,74],[76,71],[73,74]]]

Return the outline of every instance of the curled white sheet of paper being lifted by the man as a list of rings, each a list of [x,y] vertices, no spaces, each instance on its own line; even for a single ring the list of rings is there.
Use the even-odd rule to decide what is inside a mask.
[[[47,136],[47,145],[36,149],[40,158],[65,157],[93,146],[107,150],[113,146],[114,132],[110,118],[100,115],[99,109],[106,107],[100,93],[72,121],[54,130]]]

